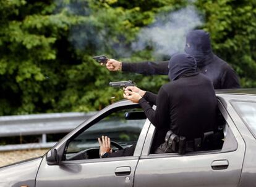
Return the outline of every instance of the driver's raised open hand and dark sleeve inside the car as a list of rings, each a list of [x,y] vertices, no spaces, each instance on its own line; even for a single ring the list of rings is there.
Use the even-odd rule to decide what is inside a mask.
[[[101,138],[98,138],[98,142],[100,145],[100,157],[117,157],[117,156],[132,156],[134,154],[134,149],[136,144],[130,146],[129,148],[124,148],[119,151],[113,152],[113,149],[111,149],[111,141],[110,138],[107,136],[101,136]]]

